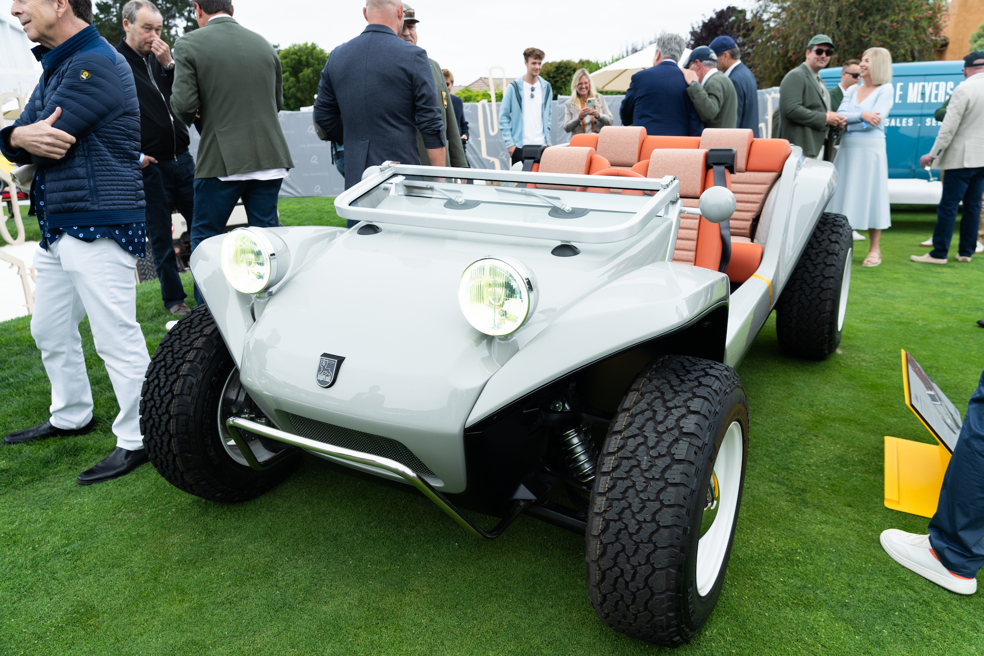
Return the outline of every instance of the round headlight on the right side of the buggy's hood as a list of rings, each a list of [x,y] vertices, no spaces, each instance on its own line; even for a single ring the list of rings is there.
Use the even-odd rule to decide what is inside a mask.
[[[532,314],[534,299],[533,276],[519,262],[486,257],[461,274],[461,312],[486,335],[515,333]]]

